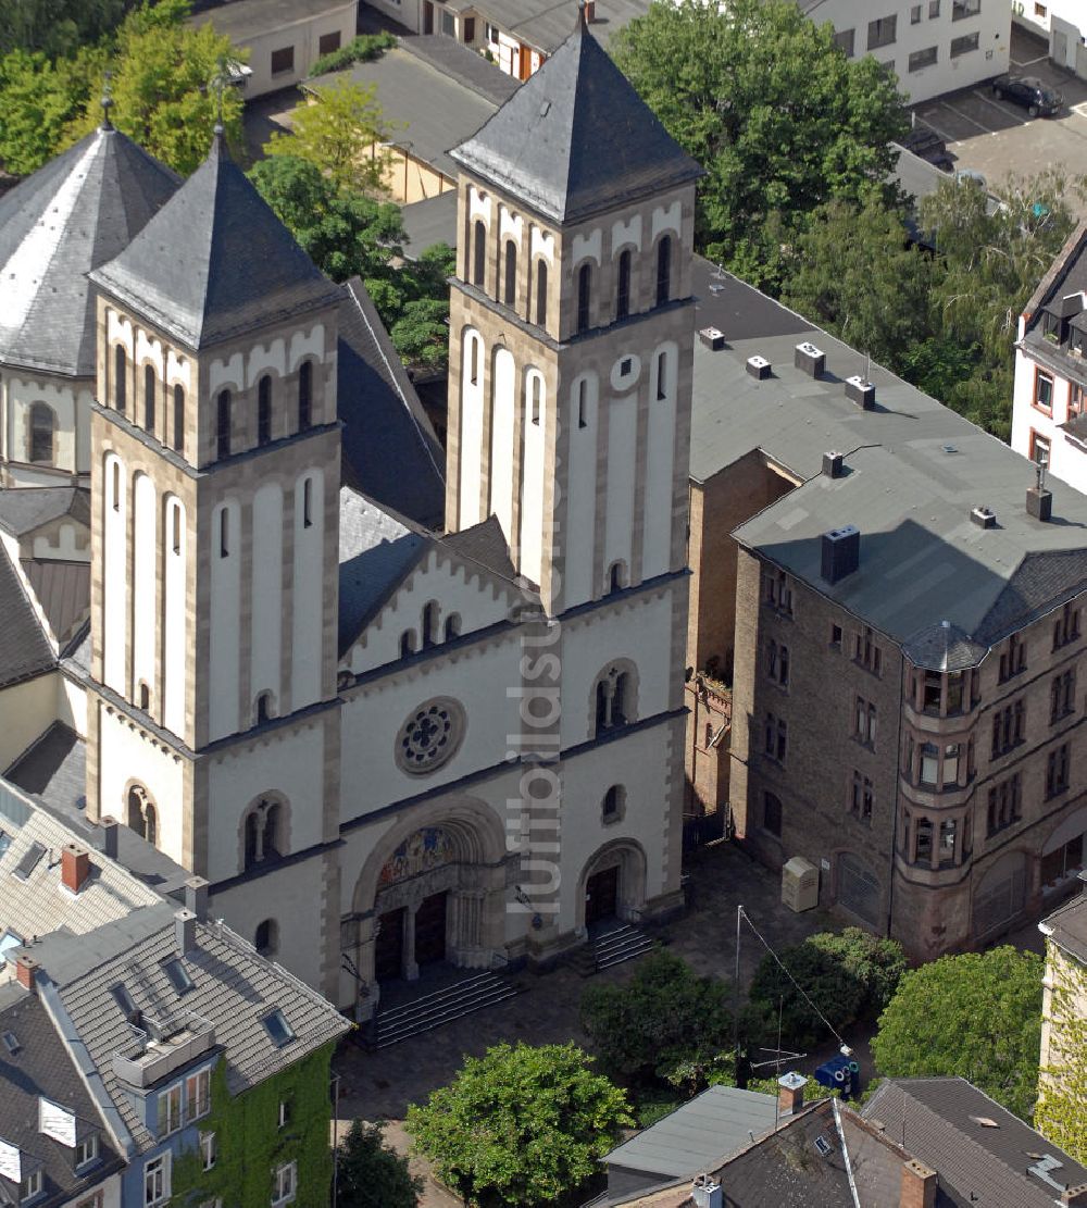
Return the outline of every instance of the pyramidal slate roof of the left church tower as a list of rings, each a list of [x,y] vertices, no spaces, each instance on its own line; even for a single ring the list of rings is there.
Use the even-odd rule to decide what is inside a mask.
[[[194,350],[339,298],[220,134],[169,203],[91,279]]]

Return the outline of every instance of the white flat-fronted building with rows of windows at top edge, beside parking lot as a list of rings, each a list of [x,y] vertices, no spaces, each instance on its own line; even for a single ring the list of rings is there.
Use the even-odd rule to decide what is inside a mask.
[[[801,0],[816,24],[831,22],[849,58],[873,54],[912,104],[969,88],[1008,69],[1007,0]]]

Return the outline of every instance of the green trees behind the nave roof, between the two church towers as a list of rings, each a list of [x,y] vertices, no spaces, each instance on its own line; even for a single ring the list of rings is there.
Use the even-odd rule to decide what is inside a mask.
[[[361,277],[400,356],[417,368],[441,370],[449,341],[454,252],[446,244],[406,260],[399,207],[337,187],[297,156],[254,165],[250,179],[313,262],[333,281]]]

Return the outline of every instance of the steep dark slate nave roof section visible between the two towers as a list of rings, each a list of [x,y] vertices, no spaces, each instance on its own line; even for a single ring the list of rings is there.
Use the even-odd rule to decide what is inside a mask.
[[[359,278],[339,310],[337,410],[343,481],[426,528],[442,523],[444,454]]]

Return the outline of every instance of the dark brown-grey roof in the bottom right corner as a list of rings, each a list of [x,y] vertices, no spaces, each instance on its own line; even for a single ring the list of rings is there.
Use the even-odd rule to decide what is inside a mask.
[[[861,1115],[936,1171],[955,1202],[1052,1208],[1064,1187],[1087,1183],[1085,1167],[961,1078],[887,1079]],[[1048,1179],[1037,1169],[1046,1157],[1057,1162],[1042,1167]]]

